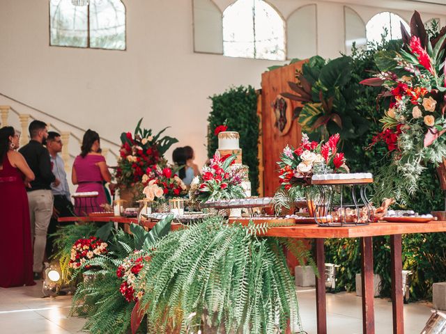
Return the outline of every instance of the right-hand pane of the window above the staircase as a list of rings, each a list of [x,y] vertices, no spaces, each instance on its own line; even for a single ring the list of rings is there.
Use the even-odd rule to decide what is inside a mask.
[[[90,47],[125,49],[125,6],[121,0],[90,0]]]

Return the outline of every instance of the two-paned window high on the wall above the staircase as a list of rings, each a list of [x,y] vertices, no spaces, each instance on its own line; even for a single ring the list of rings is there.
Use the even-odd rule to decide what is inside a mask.
[[[49,45],[125,50],[125,6],[121,0],[49,1]]]

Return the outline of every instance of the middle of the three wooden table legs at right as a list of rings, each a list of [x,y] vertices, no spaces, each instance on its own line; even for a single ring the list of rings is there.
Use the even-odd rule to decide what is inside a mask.
[[[362,333],[375,333],[374,314],[374,253],[371,237],[361,239],[362,260]]]

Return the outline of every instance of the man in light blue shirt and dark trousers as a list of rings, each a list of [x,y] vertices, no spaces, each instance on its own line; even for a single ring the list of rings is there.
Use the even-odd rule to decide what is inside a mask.
[[[54,196],[54,206],[51,220],[49,221],[47,233],[47,257],[53,253],[54,237],[51,234],[56,232],[59,223],[57,218],[74,216],[74,208],[70,198],[70,188],[68,186],[67,175],[65,173],[65,165],[58,154],[62,152],[63,143],[61,135],[57,132],[48,132],[47,149],[49,152],[49,159],[51,159],[52,173],[61,183],[56,186],[51,185],[51,190]]]

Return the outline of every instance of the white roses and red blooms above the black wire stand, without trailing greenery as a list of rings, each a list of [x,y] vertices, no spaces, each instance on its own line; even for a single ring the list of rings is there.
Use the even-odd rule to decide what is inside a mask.
[[[309,185],[314,173],[348,172],[344,153],[337,152],[338,142],[339,134],[330,136],[327,143],[309,141],[307,134],[302,134],[298,148],[287,145],[277,163],[282,189],[288,191],[295,185]]]

